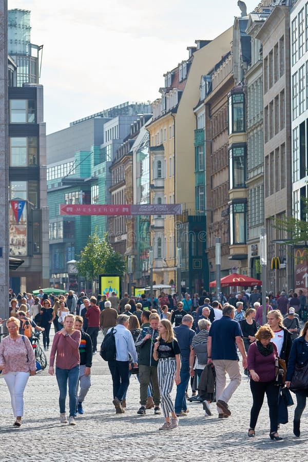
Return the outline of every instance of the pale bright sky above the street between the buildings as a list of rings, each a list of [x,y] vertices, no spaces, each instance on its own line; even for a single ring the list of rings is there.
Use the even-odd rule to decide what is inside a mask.
[[[257,4],[247,0],[247,12]],[[44,45],[47,133],[126,101],[152,102],[163,74],[188,58],[187,46],[215,38],[240,15],[237,0],[8,0],[8,7],[31,11],[31,42]]]

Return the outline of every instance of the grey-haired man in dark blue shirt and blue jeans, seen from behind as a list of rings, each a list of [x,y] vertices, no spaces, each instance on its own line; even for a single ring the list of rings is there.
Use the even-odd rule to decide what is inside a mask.
[[[186,416],[187,406],[185,391],[190,378],[190,370],[194,367],[195,352],[191,349],[191,340],[195,337],[196,332],[191,329],[194,318],[189,314],[183,316],[182,324],[174,328],[179,347],[181,350],[181,382],[177,386],[175,411],[177,416]],[[191,364],[190,364],[191,356]]]

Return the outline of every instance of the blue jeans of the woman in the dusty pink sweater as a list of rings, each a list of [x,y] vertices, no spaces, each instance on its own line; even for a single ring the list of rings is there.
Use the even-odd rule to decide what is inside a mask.
[[[65,400],[67,394],[68,381],[68,396],[69,396],[69,416],[73,416],[76,410],[76,385],[79,377],[79,365],[72,369],[55,368],[56,381],[60,390],[59,407],[60,413],[65,413]]]

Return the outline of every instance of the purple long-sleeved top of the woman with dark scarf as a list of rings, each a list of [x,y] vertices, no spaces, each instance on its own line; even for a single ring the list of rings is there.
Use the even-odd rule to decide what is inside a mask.
[[[277,347],[273,343],[273,352],[267,356],[263,356],[257,347],[256,342],[252,343],[247,354],[247,368],[255,371],[260,382],[271,382],[275,379],[275,358],[278,356]]]

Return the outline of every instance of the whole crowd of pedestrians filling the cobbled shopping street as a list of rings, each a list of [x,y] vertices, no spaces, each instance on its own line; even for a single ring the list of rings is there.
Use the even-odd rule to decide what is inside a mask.
[[[229,401],[242,380],[240,353],[252,393],[248,437],[256,434],[266,395],[269,436],[282,439],[278,402],[284,380],[285,387],[296,395],[293,431],[299,437],[308,379],[306,387],[295,387],[293,382],[299,368],[307,367],[308,376],[306,297],[302,291],[290,291],[288,296],[285,292],[267,294],[264,325],[261,299],[257,287],[229,296],[161,293],[152,300],[145,294],[129,297],[128,293],[119,299],[115,292],[109,298],[87,297],[83,292],[78,297],[73,291],[59,297],[43,293],[16,297],[10,293],[9,335],[0,343],[0,370],[11,396],[14,426],[22,425],[24,390],[36,371],[29,329],[41,330],[44,349],[51,347],[48,372],[55,374],[59,387],[60,421],[69,425],[75,425],[75,416],[84,413],[92,356],[98,351],[101,330],[105,344],[110,340],[114,344],[108,368],[117,414],[124,414],[129,406],[129,381],[134,374],[140,383],[140,408],[136,412],[144,416],[153,408],[155,415],[163,414],[159,430],[175,429],[179,418],[188,416],[190,388],[189,400],[202,402],[205,416],[213,416],[216,409],[218,418],[226,419],[232,415]],[[52,325],[55,333],[50,345]],[[285,367],[283,381],[278,380],[280,361]]]

